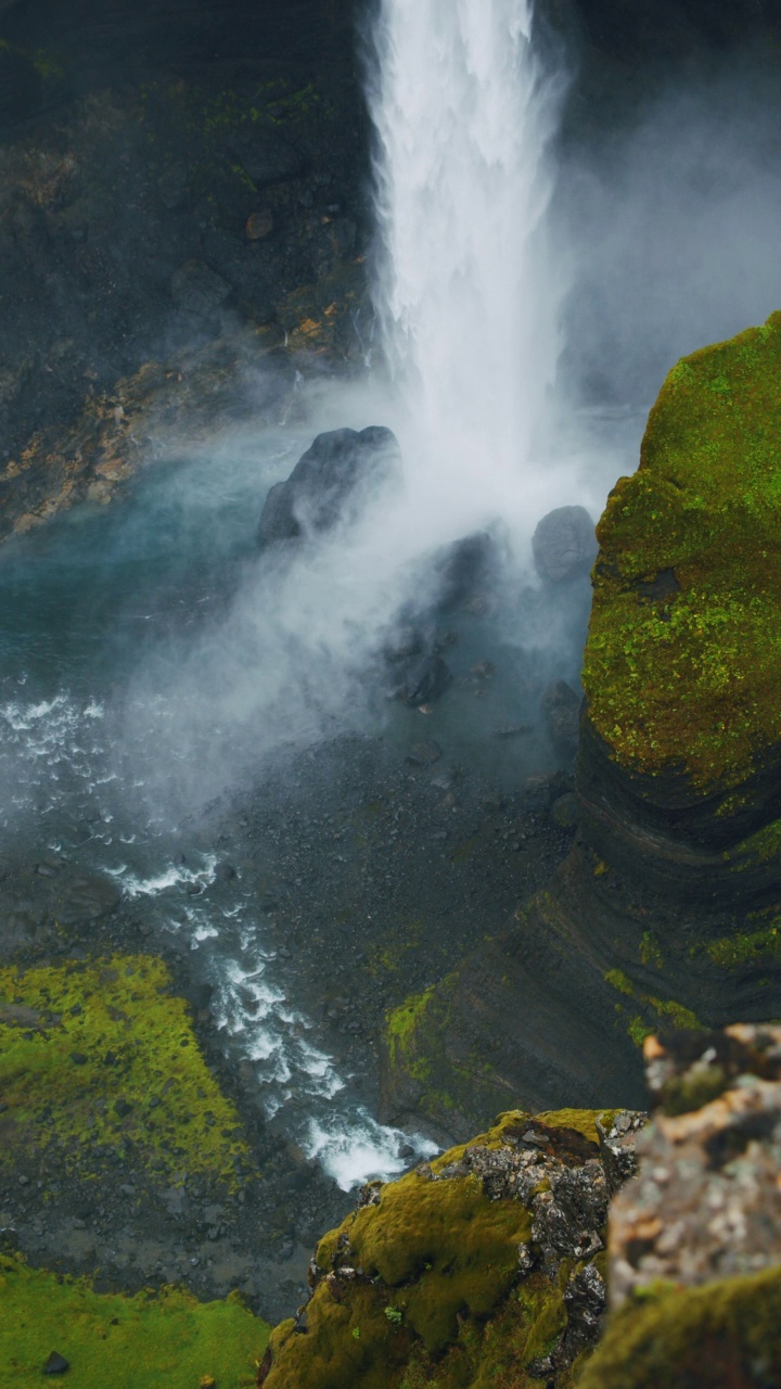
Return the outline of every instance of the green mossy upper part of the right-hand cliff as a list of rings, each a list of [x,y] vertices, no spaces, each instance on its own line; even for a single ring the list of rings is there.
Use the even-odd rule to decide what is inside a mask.
[[[780,314],[678,363],[598,528],[589,718],[702,796],[781,742],[780,381]]]

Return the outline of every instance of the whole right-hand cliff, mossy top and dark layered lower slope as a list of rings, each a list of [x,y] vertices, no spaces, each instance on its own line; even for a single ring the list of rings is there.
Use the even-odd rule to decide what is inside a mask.
[[[638,1104],[648,1032],[778,1014],[780,383],[780,314],[668,374],[598,529],[574,847],[390,1018],[386,1118]]]

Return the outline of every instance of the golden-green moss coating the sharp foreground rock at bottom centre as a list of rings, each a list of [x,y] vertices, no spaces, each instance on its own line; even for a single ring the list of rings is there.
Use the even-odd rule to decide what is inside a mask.
[[[536,1120],[575,1128],[596,1142],[592,1111],[564,1110]],[[529,1120],[510,1111],[468,1146],[502,1147],[504,1131]],[[566,1325],[563,1290],[573,1271],[554,1278],[518,1271],[518,1243],[532,1217],[518,1200],[491,1200],[474,1175],[441,1176],[466,1145],[378,1186],[379,1203],[361,1207],[331,1231],[317,1250],[318,1268],[349,1263],[360,1278],[325,1279],[307,1307],[307,1332],[282,1322],[271,1336],[267,1389],[532,1389],[529,1367]],[[596,1151],[596,1147],[595,1147]],[[567,1389],[571,1371],[552,1372]]]

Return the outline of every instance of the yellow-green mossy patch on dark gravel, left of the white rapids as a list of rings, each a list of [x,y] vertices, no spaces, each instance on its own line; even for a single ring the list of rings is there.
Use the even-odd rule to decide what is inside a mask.
[[[0,970],[0,1171],[51,1154],[89,1176],[120,1157],[236,1183],[238,1114],[170,990],[150,956]]]

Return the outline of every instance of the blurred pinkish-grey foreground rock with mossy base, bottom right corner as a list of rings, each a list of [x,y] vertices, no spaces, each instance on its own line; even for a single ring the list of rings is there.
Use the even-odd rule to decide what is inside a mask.
[[[657,1113],[610,1211],[613,1308],[582,1389],[781,1379],[781,1028],[646,1042]]]

